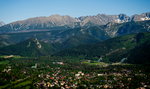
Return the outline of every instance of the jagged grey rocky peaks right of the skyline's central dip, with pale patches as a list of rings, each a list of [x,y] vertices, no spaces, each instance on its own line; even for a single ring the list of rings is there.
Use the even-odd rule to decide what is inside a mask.
[[[81,17],[79,19],[81,20],[81,26],[85,26],[89,22],[95,25],[106,25],[109,22],[123,23],[123,22],[128,22],[130,18],[125,14],[119,14],[119,15],[98,14],[96,16]]]

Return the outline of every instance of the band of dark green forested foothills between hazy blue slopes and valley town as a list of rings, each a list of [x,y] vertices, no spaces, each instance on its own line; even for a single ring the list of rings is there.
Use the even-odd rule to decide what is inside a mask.
[[[120,62],[126,58],[125,62],[129,63],[140,63],[142,61],[141,58],[144,57],[144,60],[149,62],[149,32],[119,36],[103,42],[98,42],[99,40],[84,36],[79,37],[80,39],[77,37],[70,38],[61,44],[50,44],[37,39],[29,39],[15,45],[0,48],[0,54],[21,56],[84,56],[88,59],[102,57],[103,60],[101,61],[104,62]]]

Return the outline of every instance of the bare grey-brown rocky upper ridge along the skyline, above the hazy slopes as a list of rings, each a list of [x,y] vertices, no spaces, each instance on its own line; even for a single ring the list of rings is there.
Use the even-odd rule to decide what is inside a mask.
[[[150,13],[133,15],[131,17],[125,14],[105,15],[98,14],[95,16],[81,16],[74,18],[71,16],[51,15],[49,17],[35,17],[22,21],[12,22],[0,27],[2,32],[18,32],[18,31],[37,31],[37,30],[58,30],[77,27],[91,27],[106,25],[108,23],[124,23],[132,21],[150,20]]]

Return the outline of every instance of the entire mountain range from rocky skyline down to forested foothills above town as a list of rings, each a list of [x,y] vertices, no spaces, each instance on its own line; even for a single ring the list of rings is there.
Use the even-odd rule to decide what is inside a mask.
[[[104,62],[130,63],[142,63],[145,56],[149,62],[149,32],[150,13],[36,17],[0,27],[0,55],[102,57]]]

